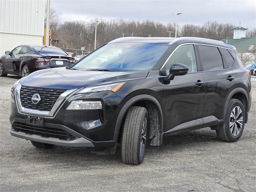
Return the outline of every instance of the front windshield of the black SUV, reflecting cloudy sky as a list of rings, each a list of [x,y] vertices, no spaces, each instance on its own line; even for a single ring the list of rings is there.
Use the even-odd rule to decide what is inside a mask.
[[[141,71],[150,70],[168,49],[167,44],[110,43],[80,60],[79,70]]]

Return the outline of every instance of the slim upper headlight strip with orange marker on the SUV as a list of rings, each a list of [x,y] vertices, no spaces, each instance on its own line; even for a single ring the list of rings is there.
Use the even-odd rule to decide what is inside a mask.
[[[93,87],[86,87],[86,88],[78,91],[76,94],[90,93],[90,92],[99,92],[99,91],[117,92],[125,83],[126,82],[112,83],[112,84],[93,86]]]

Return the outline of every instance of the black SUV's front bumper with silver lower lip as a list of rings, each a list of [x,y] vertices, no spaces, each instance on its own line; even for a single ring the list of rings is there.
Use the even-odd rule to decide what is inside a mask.
[[[14,96],[15,97],[15,96]],[[65,110],[71,100],[101,100],[103,109],[101,110]],[[12,125],[10,133],[12,136],[33,140],[48,144],[74,146],[74,147],[95,147],[107,148],[114,147],[116,141],[113,140],[116,117],[118,114],[118,105],[122,100],[110,91],[85,93],[73,95],[64,100],[52,116],[30,114],[18,110],[17,98],[11,102],[10,123]],[[51,135],[42,136],[35,133],[35,129],[40,127],[31,127],[26,124],[26,116],[34,115],[44,118],[44,127],[48,129],[60,129],[75,137],[70,140],[52,138]],[[22,132],[22,129],[15,129],[15,123],[22,123],[24,126],[30,126],[31,130]],[[42,128],[44,128],[42,127]],[[26,127],[25,127],[26,128]],[[26,129],[24,129],[26,130]],[[41,130],[44,132],[44,130]]]

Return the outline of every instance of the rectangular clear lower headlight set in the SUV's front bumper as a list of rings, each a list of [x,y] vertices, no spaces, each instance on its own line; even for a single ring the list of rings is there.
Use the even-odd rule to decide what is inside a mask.
[[[88,110],[88,109],[102,109],[101,101],[84,101],[73,100],[70,102],[66,110]]]

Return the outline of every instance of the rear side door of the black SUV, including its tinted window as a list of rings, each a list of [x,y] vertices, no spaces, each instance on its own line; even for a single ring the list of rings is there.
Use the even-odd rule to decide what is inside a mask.
[[[205,82],[203,116],[223,119],[226,96],[237,83],[236,73],[231,69],[234,59],[224,48],[208,45],[197,45],[197,47]]]

